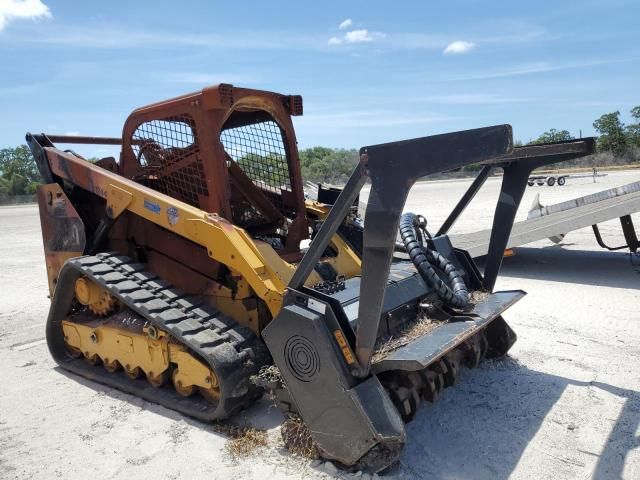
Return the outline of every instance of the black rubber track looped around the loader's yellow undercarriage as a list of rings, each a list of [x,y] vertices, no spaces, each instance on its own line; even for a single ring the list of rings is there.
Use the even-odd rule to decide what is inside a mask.
[[[155,388],[145,379],[131,380],[123,372],[108,373],[82,358],[73,358],[65,346],[61,322],[68,318],[74,283],[81,275],[102,285],[207,363],[218,376],[220,401],[213,404],[200,395],[183,397],[172,387]],[[115,253],[77,257],[65,263],[49,311],[47,344],[66,370],[205,421],[229,417],[259,398],[262,389],[250,377],[271,362],[266,345],[251,330],[145,271],[144,265]]]

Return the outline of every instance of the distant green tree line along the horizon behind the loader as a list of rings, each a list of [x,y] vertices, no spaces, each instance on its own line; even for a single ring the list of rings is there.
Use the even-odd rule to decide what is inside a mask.
[[[590,160],[591,163],[640,162],[640,105],[632,108],[629,114],[631,120],[626,125],[619,111],[605,113],[593,122],[593,128],[598,132],[598,152],[605,156],[604,160],[598,157]],[[529,143],[574,138],[568,130],[552,128]],[[516,145],[522,145],[522,142],[516,142]],[[302,177],[312,182],[344,182],[359,159],[358,151],[354,148],[312,147],[300,150],[299,154]],[[0,150],[0,199],[32,195],[39,182],[38,168],[26,145]]]

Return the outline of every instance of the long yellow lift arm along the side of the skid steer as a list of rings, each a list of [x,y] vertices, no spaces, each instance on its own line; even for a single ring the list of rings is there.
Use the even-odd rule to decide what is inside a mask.
[[[53,173],[106,199],[111,218],[128,210],[205,247],[209,257],[247,280],[273,316],[280,311],[287,277],[295,266],[275,251],[267,254],[265,250],[273,250],[271,246],[258,247],[245,230],[216,213],[207,213],[56,148],[45,150]],[[322,209],[316,205],[314,210],[318,213]],[[332,260],[337,270],[347,276],[357,275],[360,259],[338,236],[333,242],[339,252]],[[314,280],[310,278],[308,283]]]

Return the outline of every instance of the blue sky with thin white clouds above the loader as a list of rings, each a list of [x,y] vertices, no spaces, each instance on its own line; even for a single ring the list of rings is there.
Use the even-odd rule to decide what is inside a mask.
[[[0,0],[0,148],[120,136],[132,109],[219,82],[302,94],[302,148],[587,136],[640,104],[639,3]]]

